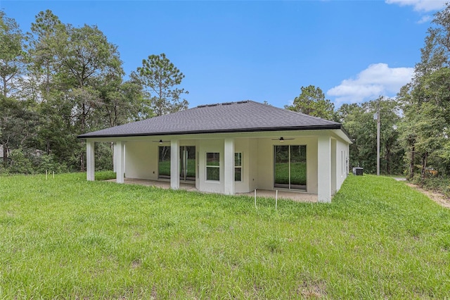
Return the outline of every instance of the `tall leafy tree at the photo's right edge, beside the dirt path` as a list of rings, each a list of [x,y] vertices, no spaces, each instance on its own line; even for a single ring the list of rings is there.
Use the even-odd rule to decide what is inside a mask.
[[[428,168],[450,174],[444,149],[450,127],[450,5],[435,14],[421,49],[413,80],[398,95],[404,111],[401,142],[407,155],[409,177],[420,166],[424,180]]]

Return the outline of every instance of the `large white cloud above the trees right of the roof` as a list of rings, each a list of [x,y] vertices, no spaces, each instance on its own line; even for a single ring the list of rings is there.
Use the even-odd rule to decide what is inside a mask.
[[[336,103],[362,102],[378,96],[395,96],[411,81],[414,68],[389,68],[387,63],[375,63],[362,70],[356,78],[342,80],[340,85],[326,92],[335,96]]]

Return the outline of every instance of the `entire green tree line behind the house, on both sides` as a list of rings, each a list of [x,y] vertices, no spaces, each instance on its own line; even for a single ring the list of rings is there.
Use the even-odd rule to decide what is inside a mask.
[[[117,46],[96,26],[63,24],[44,11],[23,33],[3,11],[0,17],[0,172],[84,170],[77,135],[188,107],[184,75],[165,54],[148,56],[126,76]],[[413,79],[395,98],[335,109],[309,85],[285,108],[342,123],[354,139],[350,166],[365,173],[376,171],[373,114],[379,111],[381,173],[449,177],[449,5],[435,14],[421,54]],[[111,168],[111,145],[96,147],[96,167]]]

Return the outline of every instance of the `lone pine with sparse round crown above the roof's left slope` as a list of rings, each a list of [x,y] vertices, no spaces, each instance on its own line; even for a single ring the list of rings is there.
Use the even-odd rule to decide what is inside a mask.
[[[150,108],[155,115],[165,115],[188,108],[188,101],[180,99],[181,94],[188,94],[179,89],[183,73],[169,61],[165,54],[150,55],[137,68],[137,77],[146,89]]]

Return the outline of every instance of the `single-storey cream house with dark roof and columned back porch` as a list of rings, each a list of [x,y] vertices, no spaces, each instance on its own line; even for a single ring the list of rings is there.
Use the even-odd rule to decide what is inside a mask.
[[[348,174],[349,139],[340,123],[255,101],[202,105],[78,136],[86,139],[87,180],[94,142],[115,143],[124,176],[192,182],[200,192],[286,189],[330,202]]]

